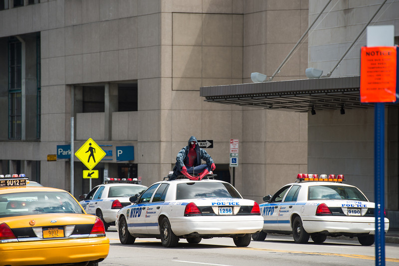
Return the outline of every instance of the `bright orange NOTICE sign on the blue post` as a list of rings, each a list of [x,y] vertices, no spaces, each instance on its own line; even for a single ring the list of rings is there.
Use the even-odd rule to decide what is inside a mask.
[[[397,78],[395,46],[362,47],[360,101],[395,102]]]

